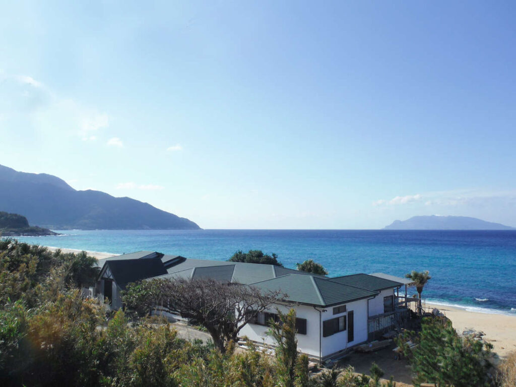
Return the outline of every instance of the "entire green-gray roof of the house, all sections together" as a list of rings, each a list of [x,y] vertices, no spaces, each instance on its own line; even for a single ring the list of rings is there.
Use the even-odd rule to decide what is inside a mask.
[[[274,265],[190,259],[152,251],[139,251],[113,258],[108,259],[108,263],[111,268],[112,264],[116,267],[120,262],[118,269],[120,273],[118,277],[115,276],[115,279],[121,287],[127,282],[156,277],[211,278],[222,282],[251,285],[264,290],[281,291],[287,295],[286,300],[321,307],[374,297],[383,289],[404,284],[393,278],[367,274],[327,278]],[[147,264],[151,261],[156,263],[152,264],[152,268],[147,268]],[[122,262],[130,264],[122,264]],[[137,264],[133,265],[134,263]],[[113,271],[112,268],[111,271]],[[119,280],[120,276],[122,276],[121,280]]]

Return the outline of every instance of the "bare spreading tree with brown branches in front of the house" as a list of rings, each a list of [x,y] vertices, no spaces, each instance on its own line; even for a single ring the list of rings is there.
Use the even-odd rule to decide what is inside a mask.
[[[280,292],[212,279],[157,279],[128,286],[123,300],[131,309],[157,305],[164,311],[196,319],[224,352],[249,321],[284,297]]]

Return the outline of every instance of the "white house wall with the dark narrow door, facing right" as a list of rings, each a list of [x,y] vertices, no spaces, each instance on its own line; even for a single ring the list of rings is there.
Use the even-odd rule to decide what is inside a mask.
[[[382,298],[383,300],[383,298]],[[383,301],[382,301],[383,308]],[[322,308],[321,308],[322,309]],[[322,321],[329,320],[335,317],[346,316],[346,324],[347,324],[347,314],[349,311],[353,311],[353,341],[348,341],[348,326],[346,325],[346,330],[342,332],[338,332],[332,334],[331,336],[322,337],[322,328],[321,328],[321,355],[322,357],[326,357],[332,353],[341,351],[353,345],[363,343],[367,341],[367,299],[358,300],[349,302],[346,304],[346,312],[340,314],[333,314],[333,307],[325,308],[326,312],[322,312]],[[321,326],[322,327],[322,326]]]

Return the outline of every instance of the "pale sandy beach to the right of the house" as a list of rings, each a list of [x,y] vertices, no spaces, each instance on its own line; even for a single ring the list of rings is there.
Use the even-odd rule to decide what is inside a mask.
[[[468,329],[484,332],[485,340],[493,344],[493,350],[500,358],[516,351],[516,315],[470,312],[462,308],[429,303],[426,306],[443,312],[459,333]]]

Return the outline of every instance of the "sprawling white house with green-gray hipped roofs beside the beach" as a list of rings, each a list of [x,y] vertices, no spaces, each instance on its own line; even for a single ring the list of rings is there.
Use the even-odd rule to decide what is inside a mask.
[[[139,262],[136,262],[136,261]],[[147,267],[147,269],[146,269]],[[166,272],[166,274],[164,274]],[[240,336],[256,343],[272,344],[267,336],[267,321],[277,310],[296,310],[298,348],[312,359],[324,361],[350,347],[367,342],[375,333],[389,330],[398,315],[396,289],[403,283],[367,274],[328,278],[274,265],[187,259],[143,251],[108,259],[97,286],[101,299],[110,292],[114,297],[128,282],[146,278],[211,278],[264,290],[281,291],[285,298],[273,304],[247,324]]]

